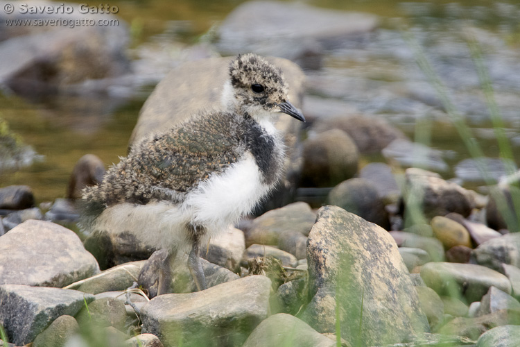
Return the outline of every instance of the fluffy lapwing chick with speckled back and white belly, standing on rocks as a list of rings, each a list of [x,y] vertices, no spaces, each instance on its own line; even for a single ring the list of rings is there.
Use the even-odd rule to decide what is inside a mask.
[[[273,118],[282,112],[305,121],[287,95],[280,69],[252,53],[238,56],[223,86],[225,111],[200,112],[135,144],[83,192],[83,226],[130,231],[167,248],[157,294],[169,289],[178,252],[189,253],[196,287],[206,289],[201,246],[251,212],[281,178],[284,144]]]

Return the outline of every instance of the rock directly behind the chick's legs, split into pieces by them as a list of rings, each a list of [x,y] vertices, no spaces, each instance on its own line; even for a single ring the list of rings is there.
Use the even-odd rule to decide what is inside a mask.
[[[159,284],[159,267],[166,259],[168,252],[165,249],[156,251],[144,263],[139,272],[137,282],[141,287],[148,291],[148,297],[154,298],[157,296],[157,286]],[[216,264],[211,264],[205,259],[200,260],[202,270],[206,277],[206,285],[208,288],[220,285],[224,282],[236,280],[239,276],[228,269],[225,269]],[[173,293],[188,293],[196,291],[196,285],[193,281],[191,273],[187,267],[187,255],[178,255],[175,262],[171,264],[171,271],[173,273],[170,290]]]

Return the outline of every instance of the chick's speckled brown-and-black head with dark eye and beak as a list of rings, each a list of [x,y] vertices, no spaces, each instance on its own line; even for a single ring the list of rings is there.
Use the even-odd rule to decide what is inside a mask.
[[[305,121],[288,101],[288,87],[281,70],[253,53],[238,56],[229,65],[227,103],[252,117],[283,112]]]

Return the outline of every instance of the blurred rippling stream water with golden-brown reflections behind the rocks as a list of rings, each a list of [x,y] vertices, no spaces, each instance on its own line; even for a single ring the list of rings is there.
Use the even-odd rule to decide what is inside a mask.
[[[72,168],[85,153],[98,155],[105,164],[118,162],[118,156],[127,151],[141,105],[169,69],[186,60],[227,54],[216,44],[216,28],[241,3],[110,1],[111,6],[119,8],[116,16],[128,24],[126,53],[136,75],[132,83],[124,79],[109,82],[110,86],[101,88],[102,91],[95,83],[94,87],[83,83],[70,93],[3,87],[0,118],[41,157],[17,171],[0,173],[0,186],[29,185],[37,202],[53,201],[64,196]],[[370,33],[318,51],[319,67],[306,69],[311,114],[327,113],[315,108],[346,108],[377,115],[388,119],[411,139],[419,124],[426,129],[422,140],[431,149],[440,150],[441,160],[447,163],[447,168],[437,167],[437,171],[442,171],[444,178],[456,176],[456,164],[469,154],[433,87],[415,64],[410,46],[402,37],[404,28],[424,47],[485,154],[497,158],[499,150],[485,98],[465,40],[465,33],[470,33],[483,51],[506,134],[519,162],[520,1],[305,3],[338,11],[366,12],[379,19]],[[0,64],[4,58],[0,56]],[[375,155],[370,160],[385,159]]]

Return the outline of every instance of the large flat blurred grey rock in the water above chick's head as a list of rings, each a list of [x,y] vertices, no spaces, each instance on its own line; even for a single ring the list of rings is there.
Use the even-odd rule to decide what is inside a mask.
[[[367,13],[325,10],[304,3],[248,1],[220,25],[217,46],[225,55],[253,51],[318,68],[323,49],[359,40],[377,24],[377,17]]]

